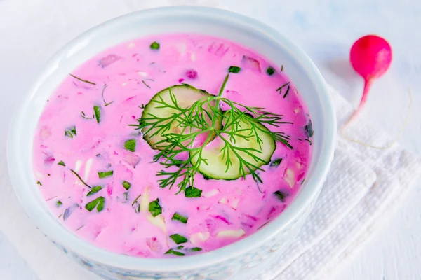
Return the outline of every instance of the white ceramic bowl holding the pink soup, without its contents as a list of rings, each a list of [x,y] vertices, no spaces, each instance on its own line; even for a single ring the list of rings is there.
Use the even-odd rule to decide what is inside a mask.
[[[46,100],[72,69],[96,53],[149,34],[194,32],[227,38],[265,55],[284,69],[309,108],[314,153],[307,180],[283,214],[253,235],[209,253],[171,259],[133,258],[97,248],[76,237],[50,214],[32,172],[32,141]],[[262,269],[285,251],[318,197],[333,158],[335,114],[326,84],[300,48],[262,23],[214,8],[144,10],[98,25],[58,51],[41,70],[16,111],[8,136],[8,167],[15,193],[35,225],[70,258],[105,279],[232,279]],[[276,251],[276,253],[274,253]]]

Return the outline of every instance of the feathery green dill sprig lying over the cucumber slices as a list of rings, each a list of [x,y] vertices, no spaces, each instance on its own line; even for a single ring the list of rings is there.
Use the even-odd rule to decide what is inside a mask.
[[[138,125],[132,125],[137,130],[144,130],[143,134],[149,138],[156,135],[163,138],[154,144],[160,148],[159,153],[154,156],[154,162],[159,162],[165,167],[157,172],[157,176],[162,178],[158,180],[161,188],[171,188],[175,185],[180,188],[178,193],[185,192],[187,188],[194,188],[194,176],[199,173],[200,166],[208,165],[207,159],[202,155],[203,149],[215,135],[224,143],[220,152],[222,152],[222,160],[225,160],[227,170],[232,167],[232,157],[235,157],[239,162],[240,174],[245,177],[249,173],[258,182],[262,182],[258,172],[264,171],[260,165],[267,163],[259,155],[262,153],[263,141],[260,138],[262,133],[288,148],[293,148],[289,144],[290,137],[284,132],[272,132],[262,128],[262,126],[280,127],[280,125],[291,124],[284,121],[282,115],[270,113],[260,107],[239,104],[222,97],[228,78],[229,73],[220,87],[218,96],[202,97],[187,108],[182,108],[178,104],[178,100],[170,88],[170,101],[166,102],[159,96],[153,102],[156,109],[174,111],[171,116],[160,117],[149,113],[146,117],[138,119]],[[288,84],[279,88],[279,91],[285,86]],[[220,104],[227,107],[224,113],[220,110]],[[217,127],[218,120],[224,124],[222,128]],[[241,123],[246,123],[248,126],[241,127]],[[180,132],[172,132],[172,127],[175,125]],[[207,134],[206,140],[200,146],[194,146],[195,139],[201,134]],[[237,146],[236,138],[246,141],[255,139],[260,150]],[[181,160],[180,155],[185,153],[188,153],[189,157]],[[251,160],[244,158],[243,155],[248,155]],[[192,161],[193,158],[195,162]],[[199,192],[193,197],[200,197]]]

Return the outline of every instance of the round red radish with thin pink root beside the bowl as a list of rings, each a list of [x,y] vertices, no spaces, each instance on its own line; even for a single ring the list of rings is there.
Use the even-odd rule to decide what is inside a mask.
[[[367,35],[359,38],[352,45],[349,58],[354,70],[363,77],[365,85],[358,109],[354,111],[348,123],[358,115],[366,104],[373,80],[380,78],[389,69],[392,62],[392,48],[384,38]]]

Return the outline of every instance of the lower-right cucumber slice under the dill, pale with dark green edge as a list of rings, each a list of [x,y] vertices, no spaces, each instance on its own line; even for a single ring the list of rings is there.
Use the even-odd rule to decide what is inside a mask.
[[[224,113],[222,124],[225,125],[226,122],[230,122],[229,120],[229,113]],[[248,129],[251,127],[250,123],[239,121],[239,125],[241,125],[241,129]],[[267,127],[261,124],[256,124],[258,128],[261,130],[268,130]],[[231,131],[229,129],[229,131]],[[243,135],[249,135],[250,130],[246,132],[238,132],[239,134]],[[257,151],[250,151],[250,153],[253,153],[253,155],[258,156],[263,161],[256,161],[252,158],[252,156],[248,155],[247,153],[244,153],[243,151],[237,151],[239,155],[241,155],[241,158],[246,160],[247,162],[253,163],[256,168],[253,168],[253,170],[257,169],[258,167],[261,167],[262,165],[267,165],[270,162],[270,158],[272,157],[272,154],[275,151],[276,144],[272,137],[270,137],[267,133],[261,132],[258,130],[258,136],[262,140],[261,147],[258,144],[258,141],[256,140],[255,135],[253,134],[252,137],[248,138],[248,140],[243,139],[239,136],[234,136],[234,139],[229,139],[229,135],[222,134],[222,137],[225,138],[226,141],[228,141],[232,146],[236,146],[239,148],[254,148],[258,151],[261,151],[261,153],[258,153]],[[203,148],[202,151],[202,158],[207,160],[207,165],[204,162],[201,162],[199,172],[203,174],[204,176],[210,177],[210,179],[225,179],[225,180],[234,180],[241,176],[250,174],[250,170],[247,167],[244,167],[244,170],[240,170],[240,162],[239,159],[236,157],[236,155],[232,152],[231,149],[229,149],[229,158],[232,161],[232,165],[229,166],[227,169],[227,165],[225,165],[225,162],[227,162],[227,155],[223,153],[222,148],[225,146],[225,141],[223,141],[219,136],[215,137],[215,139],[210,142],[205,148]],[[192,164],[195,165],[197,162],[197,155],[192,158]]]

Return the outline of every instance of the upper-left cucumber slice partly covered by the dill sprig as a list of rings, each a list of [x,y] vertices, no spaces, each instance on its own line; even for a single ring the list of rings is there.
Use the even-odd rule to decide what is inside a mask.
[[[178,111],[177,109],[172,109],[168,107],[160,108],[162,104],[156,103],[156,101],[161,102],[161,99],[162,99],[164,102],[172,105],[173,102],[171,101],[170,90],[175,95],[175,99],[177,99],[178,106],[184,109],[191,106],[194,102],[198,101],[199,99],[203,97],[212,96],[212,94],[209,94],[205,90],[199,90],[196,87],[192,87],[191,85],[187,85],[187,84],[173,85],[172,87],[168,87],[164,90],[161,90],[160,92],[156,93],[154,97],[152,97],[151,101],[145,106],[145,109],[143,110],[142,118],[150,118],[151,115],[159,117],[159,118],[168,118],[168,117],[171,117],[173,113],[179,113],[180,111]],[[214,106],[215,101],[210,102],[210,104]],[[203,108],[206,109],[206,106],[207,105],[204,105]],[[210,120],[208,116],[206,116],[205,119],[208,124],[212,123],[212,121]],[[169,123],[169,120],[166,123]],[[165,122],[163,122],[163,124],[165,124]],[[215,123],[215,129],[220,130],[221,127],[222,127],[222,122],[221,120],[218,119]],[[165,143],[161,143],[159,144],[159,146],[155,144],[165,139],[165,137],[163,137],[162,133],[154,135],[154,133],[158,130],[156,128],[147,132],[149,128],[150,127],[142,128],[142,133],[144,134],[143,138],[147,141],[147,143],[152,148],[156,150],[163,150],[164,148],[163,146],[166,145]],[[194,132],[194,131],[193,130],[186,131],[185,133],[187,134],[191,132]],[[171,124],[171,129],[163,133],[164,134],[165,133],[179,133],[180,134],[182,133],[182,127],[180,127],[179,122],[175,121]],[[215,137],[215,133],[213,134],[212,139],[214,137]]]

